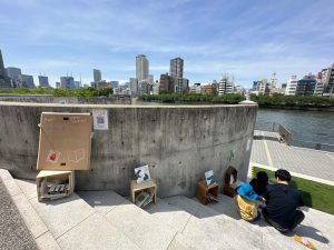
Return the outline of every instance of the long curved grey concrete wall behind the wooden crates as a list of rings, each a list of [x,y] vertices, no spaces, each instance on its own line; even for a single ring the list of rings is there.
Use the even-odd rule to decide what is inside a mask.
[[[223,180],[228,166],[246,179],[257,106],[81,106],[0,102],[0,168],[33,179],[40,113],[109,111],[95,131],[91,169],[77,171],[78,190],[129,193],[134,168],[149,164],[158,196],[194,196],[204,172]]]

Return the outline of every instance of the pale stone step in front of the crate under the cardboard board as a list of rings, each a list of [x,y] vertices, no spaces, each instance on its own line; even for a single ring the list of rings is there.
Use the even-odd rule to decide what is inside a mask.
[[[22,207],[26,210],[31,207],[31,210],[46,224],[47,232],[36,238],[41,250],[140,249],[100,214],[104,210],[90,207],[77,193],[59,200],[38,202],[33,181],[16,180],[16,182],[22,190],[17,199],[22,196],[20,200],[26,199]],[[30,217],[24,216],[28,219],[28,226],[31,224]],[[32,230],[36,231],[36,226]]]

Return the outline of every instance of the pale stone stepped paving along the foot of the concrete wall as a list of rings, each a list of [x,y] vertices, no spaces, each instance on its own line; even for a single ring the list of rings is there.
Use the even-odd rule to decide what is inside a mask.
[[[6,171],[0,170],[0,177]],[[40,249],[306,249],[263,219],[240,220],[234,200],[223,194],[208,206],[177,196],[143,210],[114,191],[81,191],[38,202],[33,182],[7,183],[16,190],[14,203]],[[318,249],[334,249],[334,217],[304,211],[295,233]]]

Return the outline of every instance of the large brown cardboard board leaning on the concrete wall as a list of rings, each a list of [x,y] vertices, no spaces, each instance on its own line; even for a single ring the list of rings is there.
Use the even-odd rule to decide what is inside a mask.
[[[91,128],[89,113],[42,112],[37,169],[88,170]]]

